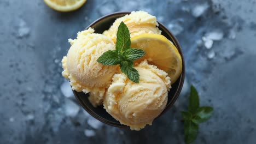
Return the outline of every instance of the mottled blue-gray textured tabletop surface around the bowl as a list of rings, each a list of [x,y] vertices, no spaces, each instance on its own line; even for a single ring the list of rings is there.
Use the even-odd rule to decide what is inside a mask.
[[[61,76],[68,38],[98,17],[145,10],[181,43],[186,80],[164,116],[141,131],[102,124]],[[256,143],[255,0],[88,0],[59,13],[43,1],[0,0],[0,143],[184,143],[179,111],[192,83],[214,107],[194,143]]]

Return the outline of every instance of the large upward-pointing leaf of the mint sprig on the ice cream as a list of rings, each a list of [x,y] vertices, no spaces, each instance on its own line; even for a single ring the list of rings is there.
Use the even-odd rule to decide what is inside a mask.
[[[117,43],[115,44],[115,50],[123,52],[131,48],[130,31],[125,23],[122,21],[118,26],[117,31]]]

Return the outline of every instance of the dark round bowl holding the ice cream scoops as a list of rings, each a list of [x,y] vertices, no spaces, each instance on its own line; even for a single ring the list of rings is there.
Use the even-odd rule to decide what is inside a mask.
[[[109,14],[106,16],[101,17],[100,19],[96,20],[95,22],[92,22],[89,27],[95,29],[95,33],[103,33],[105,30],[109,29],[110,26],[112,26],[113,22],[126,14],[130,14],[130,12],[118,12]],[[183,70],[181,76],[179,76],[179,79],[172,84],[172,88],[170,89],[170,92],[168,92],[168,101],[167,105],[164,111],[158,116],[160,117],[162,114],[164,114],[170,107],[174,104],[176,99],[179,96],[179,93],[181,93],[184,77],[185,77],[185,64],[183,59],[183,53],[181,46],[179,45],[177,39],[174,37],[174,35],[168,31],[168,29],[159,23],[159,29],[162,31],[162,35],[164,35],[167,39],[171,40],[172,43],[177,47],[179,53],[182,56],[182,62],[183,62]],[[80,105],[84,107],[84,109],[90,113],[91,116],[95,117],[99,121],[112,125],[114,127],[120,127],[120,128],[128,128],[126,125],[120,124],[117,120],[115,120],[112,116],[110,116],[105,109],[103,109],[103,106],[94,107],[91,105],[90,101],[88,100],[89,94],[85,94],[83,92],[76,92],[73,91],[75,97],[79,101]]]

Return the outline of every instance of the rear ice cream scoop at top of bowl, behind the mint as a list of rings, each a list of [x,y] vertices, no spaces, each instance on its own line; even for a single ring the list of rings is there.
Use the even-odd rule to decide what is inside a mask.
[[[155,16],[145,11],[132,11],[131,14],[115,20],[113,25],[107,31],[103,32],[103,34],[111,38],[114,43],[117,42],[117,30],[122,21],[129,28],[131,38],[144,33],[161,34],[161,31],[156,27],[158,26],[158,22],[156,22]]]

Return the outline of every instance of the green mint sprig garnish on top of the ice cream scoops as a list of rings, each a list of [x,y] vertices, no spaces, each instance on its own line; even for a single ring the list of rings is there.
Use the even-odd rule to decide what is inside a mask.
[[[97,62],[104,65],[119,64],[121,71],[133,82],[139,82],[138,71],[133,67],[133,61],[146,54],[142,49],[131,48],[130,31],[122,21],[118,26],[115,50],[104,52]]]

